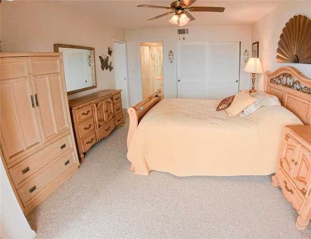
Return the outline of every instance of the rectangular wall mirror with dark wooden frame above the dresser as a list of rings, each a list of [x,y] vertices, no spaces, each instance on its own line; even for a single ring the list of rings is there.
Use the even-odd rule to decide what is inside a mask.
[[[94,48],[54,44],[62,52],[67,94],[96,88]]]

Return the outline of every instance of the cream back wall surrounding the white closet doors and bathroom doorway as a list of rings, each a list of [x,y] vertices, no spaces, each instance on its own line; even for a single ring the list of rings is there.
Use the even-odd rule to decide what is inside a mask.
[[[196,26],[187,27],[189,34],[180,36],[180,41],[238,41],[241,42],[241,67],[240,67],[240,89],[250,89],[249,74],[243,71],[243,52],[251,48],[250,26]],[[163,41],[163,79],[164,96],[177,97],[176,84],[176,43],[179,41],[178,27],[158,28],[148,30],[137,30],[126,32],[126,43],[128,51],[128,80],[130,105],[135,105],[141,100],[141,81],[139,63],[139,43],[148,41]],[[174,52],[174,62],[168,60],[168,51]]]

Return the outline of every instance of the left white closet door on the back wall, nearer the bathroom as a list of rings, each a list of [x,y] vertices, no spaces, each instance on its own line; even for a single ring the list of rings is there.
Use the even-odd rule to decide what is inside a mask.
[[[208,43],[177,43],[177,97],[208,98]]]

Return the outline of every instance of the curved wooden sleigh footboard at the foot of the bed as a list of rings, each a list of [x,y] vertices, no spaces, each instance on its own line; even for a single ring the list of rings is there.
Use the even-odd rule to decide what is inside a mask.
[[[163,92],[162,90],[158,89],[153,95],[148,96],[135,106],[129,107],[127,109],[130,120],[130,126],[127,132],[127,149],[130,146],[130,142],[132,140],[135,130],[138,127],[141,118],[162,99],[163,99]]]

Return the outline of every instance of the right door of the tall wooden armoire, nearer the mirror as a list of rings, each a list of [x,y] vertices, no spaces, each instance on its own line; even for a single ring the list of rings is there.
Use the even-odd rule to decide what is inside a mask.
[[[30,58],[35,103],[44,142],[69,131],[68,101],[59,57]]]

